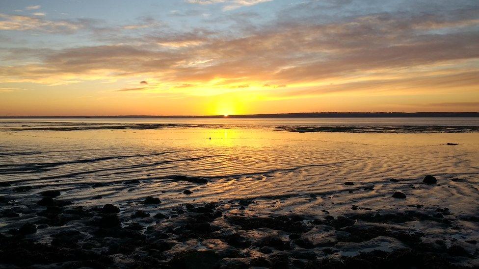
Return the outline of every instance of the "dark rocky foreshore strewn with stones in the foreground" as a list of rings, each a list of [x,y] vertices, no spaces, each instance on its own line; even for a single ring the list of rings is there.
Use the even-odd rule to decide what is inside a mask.
[[[426,176],[423,184],[434,180]],[[57,190],[12,192],[37,198],[20,207],[0,197],[1,220],[18,220],[0,234],[4,268],[463,268],[479,256],[477,238],[434,236],[434,229],[459,233],[478,226],[478,216],[456,216],[447,207],[258,215],[248,209],[260,201],[248,199],[159,210],[161,197],[147,196],[126,206],[87,208]],[[405,223],[427,223],[430,230]]]

